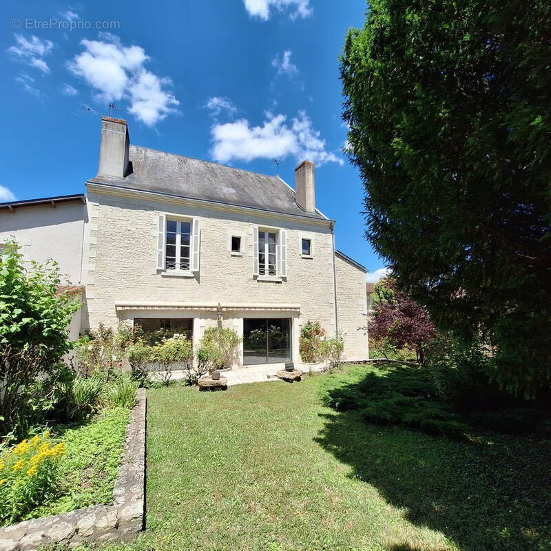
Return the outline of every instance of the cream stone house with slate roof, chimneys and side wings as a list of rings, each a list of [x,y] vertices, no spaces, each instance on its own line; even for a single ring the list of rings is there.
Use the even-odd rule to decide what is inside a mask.
[[[131,145],[127,123],[104,116],[86,189],[0,205],[0,239],[15,235],[28,258],[57,258],[85,285],[81,331],[127,320],[198,340],[222,324],[242,335],[238,363],[250,365],[300,362],[300,329],[319,320],[344,335],[347,360],[368,357],[366,269],[335,249],[313,163],[295,169],[293,189]]]

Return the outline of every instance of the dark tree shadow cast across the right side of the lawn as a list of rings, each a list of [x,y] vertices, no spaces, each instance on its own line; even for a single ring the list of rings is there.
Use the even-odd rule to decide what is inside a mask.
[[[372,383],[368,375],[329,395],[350,397]],[[365,404],[350,406],[323,415],[316,441],[351,466],[351,478],[404,508],[408,521],[462,551],[551,549],[550,441],[483,433],[457,441],[371,424]],[[404,545],[393,551],[416,549]]]

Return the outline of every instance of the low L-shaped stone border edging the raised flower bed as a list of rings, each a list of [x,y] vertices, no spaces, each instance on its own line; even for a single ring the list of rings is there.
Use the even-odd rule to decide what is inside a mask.
[[[114,501],[0,528],[0,551],[30,551],[53,542],[72,549],[83,542],[129,540],[143,530],[145,388],[138,389],[136,401],[130,412],[123,461],[113,488]]]

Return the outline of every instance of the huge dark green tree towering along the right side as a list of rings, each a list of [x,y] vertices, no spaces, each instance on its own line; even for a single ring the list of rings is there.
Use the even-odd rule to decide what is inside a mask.
[[[551,381],[551,4],[375,0],[342,54],[366,237],[495,377]]]

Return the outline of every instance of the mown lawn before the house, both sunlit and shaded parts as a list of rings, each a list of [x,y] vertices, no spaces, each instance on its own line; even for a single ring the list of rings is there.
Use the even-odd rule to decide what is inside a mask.
[[[549,550],[549,441],[457,441],[322,406],[299,384],[148,391],[147,530],[132,550]]]

